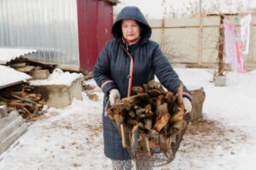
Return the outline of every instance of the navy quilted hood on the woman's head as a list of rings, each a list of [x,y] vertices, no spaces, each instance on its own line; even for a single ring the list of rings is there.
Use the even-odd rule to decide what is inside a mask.
[[[148,40],[151,37],[151,27],[148,25],[148,21],[145,19],[141,10],[137,7],[125,7],[118,14],[117,19],[112,26],[112,35],[115,38],[122,37],[121,23],[124,19],[136,20],[137,24],[142,28],[141,36],[143,39]]]

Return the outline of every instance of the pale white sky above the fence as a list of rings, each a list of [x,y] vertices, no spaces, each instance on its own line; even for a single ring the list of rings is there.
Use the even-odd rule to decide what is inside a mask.
[[[150,19],[170,18],[198,14],[200,0],[120,0],[115,12],[125,6],[137,6]],[[255,0],[201,0],[201,8],[207,13],[237,13],[256,8]]]

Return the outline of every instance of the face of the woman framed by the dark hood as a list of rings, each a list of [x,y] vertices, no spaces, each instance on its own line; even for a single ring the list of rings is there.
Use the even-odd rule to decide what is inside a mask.
[[[126,42],[132,42],[137,40],[141,35],[141,28],[137,25],[137,22],[132,19],[122,20],[122,33]]]

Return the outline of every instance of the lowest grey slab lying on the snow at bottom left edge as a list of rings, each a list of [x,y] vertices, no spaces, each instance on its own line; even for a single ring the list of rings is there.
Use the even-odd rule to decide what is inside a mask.
[[[23,133],[26,132],[27,126],[26,124],[22,124],[19,128],[15,130],[14,133],[11,133],[7,139],[4,139],[0,143],[0,154],[3,151],[7,150],[11,144],[15,142]]]

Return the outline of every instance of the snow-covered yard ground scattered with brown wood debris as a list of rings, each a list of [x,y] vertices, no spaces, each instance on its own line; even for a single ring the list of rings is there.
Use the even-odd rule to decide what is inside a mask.
[[[215,87],[209,70],[176,71],[190,89],[204,88],[204,119],[189,124],[175,160],[154,169],[256,169],[256,71],[230,73],[226,87]],[[49,108],[0,156],[0,169],[111,169],[103,154],[102,93],[95,93],[97,101],[84,94],[65,109]]]

